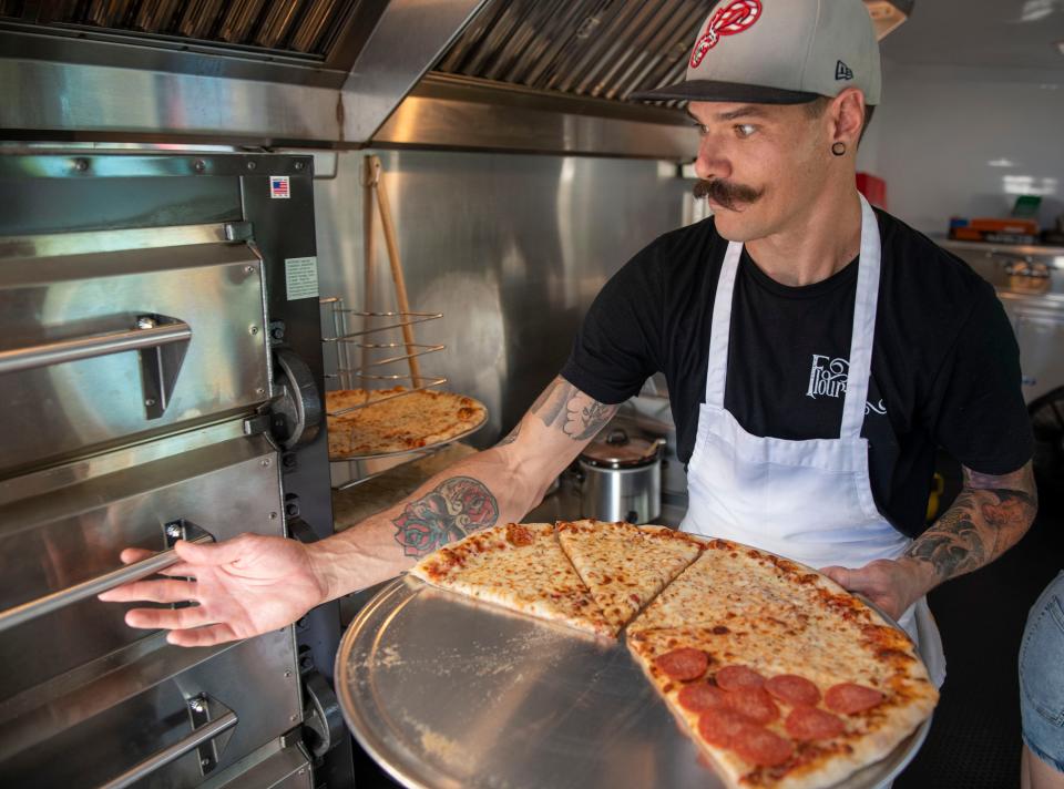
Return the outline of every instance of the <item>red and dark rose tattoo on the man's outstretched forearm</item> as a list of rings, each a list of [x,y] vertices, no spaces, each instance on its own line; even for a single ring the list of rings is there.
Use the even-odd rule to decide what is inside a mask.
[[[392,523],[403,555],[427,556],[498,520],[499,502],[483,482],[452,477],[409,502]]]

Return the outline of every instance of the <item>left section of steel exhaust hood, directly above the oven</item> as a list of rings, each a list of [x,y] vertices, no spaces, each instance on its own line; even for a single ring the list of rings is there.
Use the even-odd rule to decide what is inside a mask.
[[[0,0],[0,135],[364,145],[483,2]]]

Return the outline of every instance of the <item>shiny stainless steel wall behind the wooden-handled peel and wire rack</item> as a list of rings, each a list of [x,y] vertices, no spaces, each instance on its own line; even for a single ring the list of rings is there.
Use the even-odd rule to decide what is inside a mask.
[[[320,291],[349,305],[364,304],[362,155],[339,154],[336,177],[315,182]],[[444,314],[416,327],[419,341],[448,346],[422,359],[423,371],[446,375],[446,388],[488,406],[491,421],[478,445],[516,423],[565,361],[602,285],[682,224],[690,192],[674,164],[652,161],[378,155],[411,307]],[[376,306],[395,309],[377,238]]]

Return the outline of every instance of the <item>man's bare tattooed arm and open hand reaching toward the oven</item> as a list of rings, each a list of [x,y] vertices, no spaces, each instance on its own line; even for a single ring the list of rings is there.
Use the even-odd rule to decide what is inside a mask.
[[[398,575],[446,543],[520,521],[615,411],[556,378],[498,447],[456,463],[407,501],[345,532],[309,545],[257,534],[216,545],[178,542],[181,562],[162,573],[172,577],[136,581],[101,598],[196,603],[126,613],[130,626],[170,629],[167,639],[182,646],[284,627],[316,605]],[[149,555],[126,549],[122,561]]]

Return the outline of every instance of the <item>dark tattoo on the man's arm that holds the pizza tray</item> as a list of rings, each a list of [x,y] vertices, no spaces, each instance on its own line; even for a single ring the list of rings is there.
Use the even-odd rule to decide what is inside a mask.
[[[990,564],[1027,531],[1039,509],[1030,463],[1002,477],[964,469],[964,489],[938,523],[906,551],[941,581]]]

